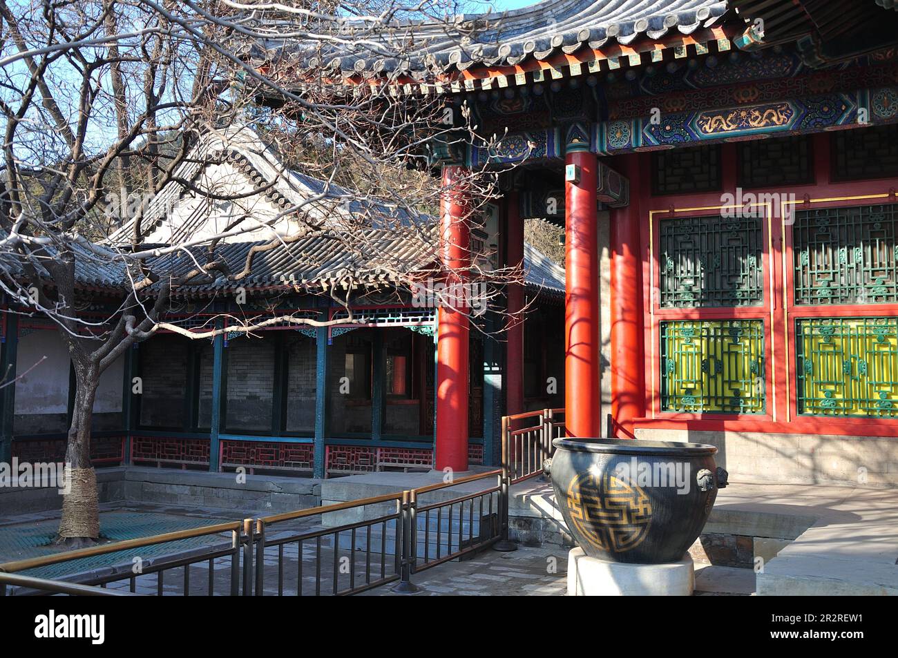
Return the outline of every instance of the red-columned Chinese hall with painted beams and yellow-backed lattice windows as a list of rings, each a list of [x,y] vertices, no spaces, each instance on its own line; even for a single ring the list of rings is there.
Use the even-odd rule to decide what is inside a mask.
[[[568,433],[717,443],[749,477],[898,483],[892,3],[546,0],[453,25],[398,26],[403,60],[325,50],[321,75],[436,94],[505,135],[446,140],[434,162],[456,202],[464,170],[516,165],[499,232],[517,249],[523,217],[565,227]],[[277,71],[292,47],[266,45]],[[455,207],[445,241],[466,245]],[[464,332],[440,311],[437,468],[469,463]]]

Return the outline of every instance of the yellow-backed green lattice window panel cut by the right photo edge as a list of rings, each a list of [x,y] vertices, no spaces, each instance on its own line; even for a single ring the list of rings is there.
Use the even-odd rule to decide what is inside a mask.
[[[796,322],[798,413],[898,416],[898,318]]]

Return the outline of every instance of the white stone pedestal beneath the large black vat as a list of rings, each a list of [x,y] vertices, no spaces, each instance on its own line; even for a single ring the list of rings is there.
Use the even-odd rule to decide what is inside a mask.
[[[664,565],[629,565],[588,557],[583,548],[568,553],[568,596],[691,596],[692,557]]]

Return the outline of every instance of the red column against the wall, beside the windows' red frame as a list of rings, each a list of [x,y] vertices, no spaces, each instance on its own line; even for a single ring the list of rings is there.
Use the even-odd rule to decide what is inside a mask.
[[[621,157],[621,174],[629,179],[629,206],[611,211],[612,425],[621,438],[633,438],[633,419],[646,415],[639,157]]]

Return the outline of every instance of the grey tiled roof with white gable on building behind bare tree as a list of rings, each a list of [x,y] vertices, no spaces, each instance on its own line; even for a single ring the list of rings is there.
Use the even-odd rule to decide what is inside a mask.
[[[328,185],[323,180],[285,170],[277,154],[263,145],[259,136],[248,127],[236,127],[227,131],[212,130],[200,140],[197,150],[204,156],[212,152],[226,154],[229,162],[246,177],[248,189],[260,189],[259,195],[269,195],[276,203],[283,199],[280,203],[285,207],[318,195],[342,197],[352,194],[347,189]],[[198,176],[202,169],[198,162],[202,161],[199,157],[193,160],[194,162],[181,165],[184,172],[179,178],[194,180]],[[276,180],[277,185],[269,188],[268,183],[272,180]],[[263,192],[262,189],[266,191]],[[185,189],[174,181],[163,188],[154,199],[154,206],[142,224],[145,238],[152,235],[156,226],[166,221],[165,210],[171,211],[175,207],[172,202],[177,203],[184,193]],[[204,207],[205,212],[191,213],[182,224],[174,226],[174,244],[189,240],[190,232],[198,232],[203,223],[214,224],[214,215],[218,212],[216,205]],[[321,214],[325,230],[316,230],[302,238],[281,236],[281,243],[268,250],[253,250],[273,243],[273,238],[265,234],[260,235],[260,239],[220,241],[216,245],[214,256],[225,261],[228,276],[215,270],[211,275],[195,277],[188,284],[173,290],[172,294],[181,297],[212,296],[238,287],[259,290],[284,286],[314,289],[322,286],[390,285],[399,280],[399,277],[392,274],[394,272],[418,272],[426,277],[434,269],[438,245],[434,217],[423,214],[411,217],[394,204],[377,198],[367,199],[364,205],[357,201],[339,206],[321,204],[316,212]],[[374,222],[370,228],[348,231],[339,217],[332,216],[345,212],[363,212],[372,217]],[[397,213],[401,215],[401,224],[395,222]],[[378,214],[381,218],[389,216],[391,221],[384,221],[378,228]],[[398,226],[404,228],[397,230]],[[84,287],[127,288],[129,284],[125,259],[110,259],[109,254],[116,249],[127,248],[133,230],[133,221],[126,223],[108,241],[95,248],[89,244],[72,243],[77,282]],[[143,248],[148,249],[150,245],[145,243]],[[56,250],[45,248],[45,251],[46,258],[55,257]],[[243,271],[251,251],[255,253],[252,256],[250,275],[233,278]],[[182,276],[197,268],[198,263],[206,262],[207,256],[207,247],[195,246],[189,248],[189,253],[177,250],[150,259],[148,264],[151,268],[155,265],[157,271]],[[14,259],[11,260],[13,262],[8,267],[15,269],[17,263]],[[2,260],[0,265],[4,265]],[[532,292],[564,294],[564,269],[529,244],[525,245],[524,268],[524,283]]]

